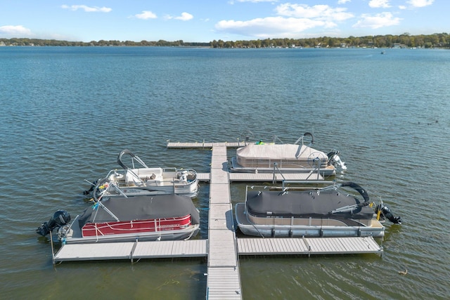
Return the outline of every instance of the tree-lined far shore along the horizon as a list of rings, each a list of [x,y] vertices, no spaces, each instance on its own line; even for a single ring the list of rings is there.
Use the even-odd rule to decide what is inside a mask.
[[[257,39],[210,42],[179,41],[59,41],[56,39],[0,39],[0,46],[176,46],[206,48],[450,48],[447,33],[376,35],[366,37],[316,37],[309,39]]]

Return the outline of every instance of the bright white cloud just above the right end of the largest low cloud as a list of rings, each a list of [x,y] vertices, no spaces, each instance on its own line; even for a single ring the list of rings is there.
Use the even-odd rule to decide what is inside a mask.
[[[311,18],[317,20],[342,21],[353,18],[347,8],[332,8],[328,5],[307,6],[306,4],[281,4],[275,8],[278,15],[294,18]]]

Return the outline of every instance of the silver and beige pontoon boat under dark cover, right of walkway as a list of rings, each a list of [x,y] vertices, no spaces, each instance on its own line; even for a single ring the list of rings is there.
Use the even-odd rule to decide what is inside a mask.
[[[363,197],[350,195],[353,188]],[[236,221],[245,235],[262,237],[383,237],[384,211],[373,207],[363,188],[342,183],[321,189],[248,187],[236,204]],[[401,223],[399,217],[391,221]]]

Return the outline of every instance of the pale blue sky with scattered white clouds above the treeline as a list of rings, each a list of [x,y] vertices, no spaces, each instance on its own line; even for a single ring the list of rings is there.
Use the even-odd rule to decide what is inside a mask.
[[[1,0],[0,38],[210,42],[449,33],[449,0]]]

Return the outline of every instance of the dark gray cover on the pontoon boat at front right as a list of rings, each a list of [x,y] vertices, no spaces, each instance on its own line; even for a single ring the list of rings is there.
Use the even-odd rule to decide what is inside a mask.
[[[334,209],[361,204],[354,211],[331,214]],[[246,206],[248,212],[262,217],[372,219],[373,209],[364,200],[339,190],[281,191],[249,190]]]

